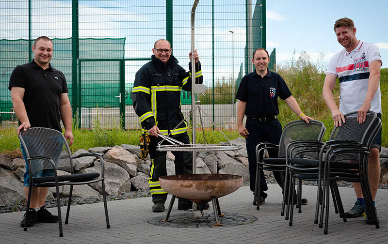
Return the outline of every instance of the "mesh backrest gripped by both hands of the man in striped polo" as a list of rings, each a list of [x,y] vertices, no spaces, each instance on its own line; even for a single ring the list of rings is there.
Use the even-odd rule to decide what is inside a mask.
[[[371,141],[371,133],[375,129],[377,115],[375,112],[368,111],[365,122],[357,122],[357,111],[344,115],[345,123],[341,126],[334,127],[329,140],[354,140],[367,146]]]

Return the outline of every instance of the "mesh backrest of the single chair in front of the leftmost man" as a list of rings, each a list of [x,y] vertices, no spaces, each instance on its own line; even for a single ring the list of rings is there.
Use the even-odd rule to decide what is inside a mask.
[[[73,162],[67,141],[61,132],[49,128],[32,127],[19,134],[27,157],[51,158],[57,169],[73,172]],[[31,160],[31,173],[43,169],[52,169],[48,160]]]

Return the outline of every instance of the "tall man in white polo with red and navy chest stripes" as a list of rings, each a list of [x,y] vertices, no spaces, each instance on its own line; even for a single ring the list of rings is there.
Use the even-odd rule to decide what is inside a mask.
[[[364,43],[356,38],[353,20],[340,18],[334,24],[334,31],[340,45],[345,47],[336,53],[326,72],[323,98],[330,108],[335,126],[345,122],[344,114],[358,111],[357,121],[365,121],[371,110],[381,119],[380,67],[383,64],[379,49],[374,44]],[[333,97],[333,87],[339,77],[339,108]],[[368,177],[373,204],[380,178],[381,130],[372,143],[368,159]],[[355,206],[345,213],[347,218],[361,216],[365,212],[365,202],[360,183],[353,183],[357,200]]]

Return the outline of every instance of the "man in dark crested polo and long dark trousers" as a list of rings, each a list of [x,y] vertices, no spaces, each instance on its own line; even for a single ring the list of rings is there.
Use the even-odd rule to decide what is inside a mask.
[[[291,95],[289,88],[283,78],[267,69],[270,61],[267,50],[258,48],[253,52],[252,62],[256,70],[242,78],[236,98],[239,101],[237,108],[237,126],[240,135],[246,139],[246,150],[248,152],[249,178],[251,191],[255,191],[256,180],[256,145],[262,141],[269,141],[279,144],[282,134],[282,126],[276,119],[279,114],[277,97],[283,99],[287,105],[302,120],[308,123],[310,117],[302,113],[295,98]],[[246,115],[245,127],[242,120]],[[277,157],[277,150],[268,150],[270,157]],[[274,177],[279,186],[283,189],[284,172],[274,171]],[[260,198],[259,204],[264,203],[268,190],[264,173],[261,170]],[[307,199],[302,199],[306,204]]]

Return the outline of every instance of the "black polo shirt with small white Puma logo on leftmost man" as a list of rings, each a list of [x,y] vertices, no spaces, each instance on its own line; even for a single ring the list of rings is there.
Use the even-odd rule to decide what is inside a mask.
[[[8,89],[12,87],[25,89],[23,102],[31,127],[47,127],[62,132],[59,99],[68,90],[65,75],[61,71],[51,67],[51,64],[44,70],[32,60],[16,66]]]

